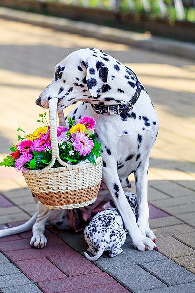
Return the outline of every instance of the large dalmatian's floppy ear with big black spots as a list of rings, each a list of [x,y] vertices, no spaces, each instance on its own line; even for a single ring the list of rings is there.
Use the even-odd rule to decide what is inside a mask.
[[[86,83],[88,90],[92,97],[97,97],[100,92],[104,89],[108,79],[108,68],[104,63],[94,59],[88,59],[82,61],[82,64],[86,68]]]

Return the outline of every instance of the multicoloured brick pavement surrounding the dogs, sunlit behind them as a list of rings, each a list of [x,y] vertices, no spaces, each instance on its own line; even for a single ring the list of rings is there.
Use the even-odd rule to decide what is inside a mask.
[[[160,252],[136,251],[127,238],[121,255],[112,259],[105,254],[93,264],[83,256],[82,234],[47,226],[43,250],[29,247],[31,232],[0,239],[0,291],[87,293],[93,287],[93,292],[193,292],[195,63],[2,19],[0,34],[0,160],[16,142],[18,126],[27,132],[38,126],[42,110],[35,100],[50,83],[54,65],[81,47],[101,48],[135,70],[160,122],[149,170],[150,226]],[[29,219],[35,204],[20,173],[1,167],[0,178],[3,229]],[[130,180],[135,191],[132,176]]]

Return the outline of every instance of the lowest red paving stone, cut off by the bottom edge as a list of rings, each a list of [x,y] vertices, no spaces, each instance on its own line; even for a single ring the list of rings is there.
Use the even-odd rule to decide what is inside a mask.
[[[79,288],[74,290],[63,291],[66,293],[129,293],[129,290],[125,289],[123,286],[115,283],[109,283],[98,286],[90,286],[85,288]]]

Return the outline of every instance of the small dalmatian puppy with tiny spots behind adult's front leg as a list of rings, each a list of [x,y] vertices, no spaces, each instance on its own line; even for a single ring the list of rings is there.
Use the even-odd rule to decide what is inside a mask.
[[[137,215],[137,196],[134,193],[125,192],[128,203]],[[114,204],[114,203],[112,203]],[[109,256],[114,257],[123,252],[121,246],[126,240],[126,232],[122,217],[116,208],[99,211],[84,230],[84,238],[89,245],[87,251],[94,254],[89,260],[97,260],[104,251],[109,251]]]

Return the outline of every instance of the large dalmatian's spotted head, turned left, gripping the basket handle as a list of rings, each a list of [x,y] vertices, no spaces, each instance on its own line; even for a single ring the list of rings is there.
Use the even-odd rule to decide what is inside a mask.
[[[68,55],[56,65],[53,81],[36,104],[48,108],[49,100],[58,98],[57,111],[60,112],[77,101],[97,101],[107,84],[106,56],[98,49],[81,49]]]

